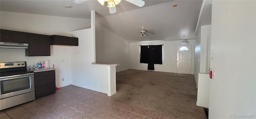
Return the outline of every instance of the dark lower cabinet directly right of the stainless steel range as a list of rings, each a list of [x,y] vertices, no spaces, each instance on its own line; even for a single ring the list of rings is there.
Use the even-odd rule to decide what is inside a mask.
[[[34,73],[36,99],[55,93],[55,70]]]

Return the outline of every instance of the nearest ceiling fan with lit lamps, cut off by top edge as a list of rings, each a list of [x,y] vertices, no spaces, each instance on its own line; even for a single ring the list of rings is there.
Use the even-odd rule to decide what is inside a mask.
[[[76,0],[74,1],[76,4],[81,4],[83,2],[86,2],[88,0]],[[130,2],[136,6],[142,7],[145,5],[145,2],[142,0],[125,0],[127,2]],[[116,5],[121,2],[121,0],[98,0],[102,6],[104,6],[104,2],[108,2],[108,10],[110,14],[116,13]]]

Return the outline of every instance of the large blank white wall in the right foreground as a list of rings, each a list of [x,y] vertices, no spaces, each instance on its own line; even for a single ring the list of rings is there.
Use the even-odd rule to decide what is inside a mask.
[[[212,3],[209,119],[256,118],[256,1]]]

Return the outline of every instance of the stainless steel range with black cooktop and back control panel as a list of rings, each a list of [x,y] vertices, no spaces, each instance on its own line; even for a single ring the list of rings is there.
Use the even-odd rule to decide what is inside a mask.
[[[34,72],[26,61],[0,63],[0,110],[35,99]]]

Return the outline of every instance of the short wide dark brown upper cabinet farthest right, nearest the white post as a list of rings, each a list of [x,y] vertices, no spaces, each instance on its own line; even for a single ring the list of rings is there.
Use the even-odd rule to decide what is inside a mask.
[[[78,38],[52,35],[51,45],[78,46]]]

